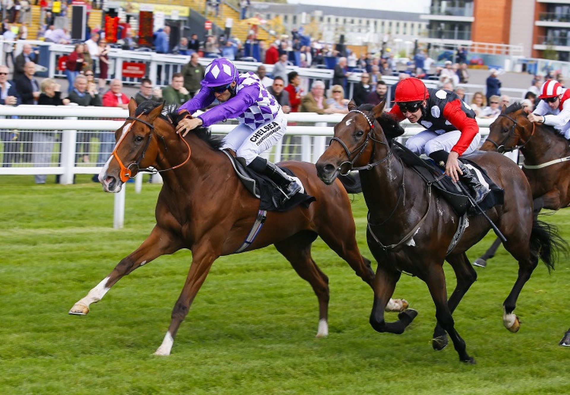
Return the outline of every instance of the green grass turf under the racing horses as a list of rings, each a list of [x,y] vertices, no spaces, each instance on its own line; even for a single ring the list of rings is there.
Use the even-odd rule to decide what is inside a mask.
[[[182,323],[172,355],[152,353],[170,323],[191,255],[158,258],[120,280],[87,316],[71,306],[145,239],[160,186],[128,184],[125,228],[112,229],[113,195],[88,176],[35,186],[0,177],[1,394],[568,394],[570,262],[542,263],[519,298],[518,333],[503,328],[502,302],[518,269],[500,249],[455,311],[476,365],[448,346],[431,349],[435,309],[425,284],[402,276],[396,296],[420,315],[403,335],[368,324],[372,291],[324,245],[329,336],[316,339],[317,302],[273,247],[219,258]],[[365,205],[353,211],[363,254]],[[544,217],[570,239],[570,210]],[[469,251],[473,260],[493,235]],[[447,288],[455,286],[445,266]],[[394,313],[388,319],[396,319]]]

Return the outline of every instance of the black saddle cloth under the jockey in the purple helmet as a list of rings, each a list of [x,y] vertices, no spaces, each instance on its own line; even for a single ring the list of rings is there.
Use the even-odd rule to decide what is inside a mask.
[[[300,192],[296,193],[293,197],[280,204],[283,197],[283,192],[278,188],[273,181],[268,177],[262,176],[261,174],[255,173],[253,170],[248,168],[245,162],[240,161],[234,156],[233,152],[223,149],[223,153],[230,159],[230,163],[233,166],[235,173],[238,175],[239,179],[246,189],[256,198],[260,200],[259,209],[267,211],[287,211],[296,207],[300,204],[308,207],[316,199],[315,197],[304,193],[304,187]],[[291,170],[279,166],[285,173],[291,177],[295,177],[295,174]],[[295,177],[296,178],[296,177]],[[299,178],[296,178],[299,185],[303,185]]]

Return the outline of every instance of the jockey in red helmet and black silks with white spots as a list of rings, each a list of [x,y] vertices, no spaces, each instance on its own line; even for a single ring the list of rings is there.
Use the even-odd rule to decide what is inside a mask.
[[[454,182],[461,177],[473,189],[475,201],[481,202],[489,190],[457,159],[477,150],[481,141],[473,109],[454,92],[428,89],[417,78],[401,80],[395,96],[396,105],[390,114],[399,121],[408,119],[426,128],[410,137],[406,147],[418,155],[425,153],[445,167],[445,173]]]

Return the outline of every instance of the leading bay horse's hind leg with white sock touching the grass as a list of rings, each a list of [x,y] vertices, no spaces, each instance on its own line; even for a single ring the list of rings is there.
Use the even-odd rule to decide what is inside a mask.
[[[317,235],[303,231],[292,237],[275,243],[276,249],[291,263],[297,274],[306,280],[319,300],[319,327],[317,337],[328,336],[328,277],[311,257],[311,245]]]

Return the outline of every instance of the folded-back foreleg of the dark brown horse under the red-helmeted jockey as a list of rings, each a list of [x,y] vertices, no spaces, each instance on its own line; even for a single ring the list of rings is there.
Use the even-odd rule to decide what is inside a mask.
[[[400,272],[385,270],[378,264],[376,276],[374,276],[374,304],[370,313],[370,325],[377,332],[390,332],[400,335],[404,333],[404,329],[412,323],[418,312],[411,308],[406,309],[398,314],[398,320],[386,323],[384,320],[384,310],[386,304],[396,288],[396,283],[400,279]]]

